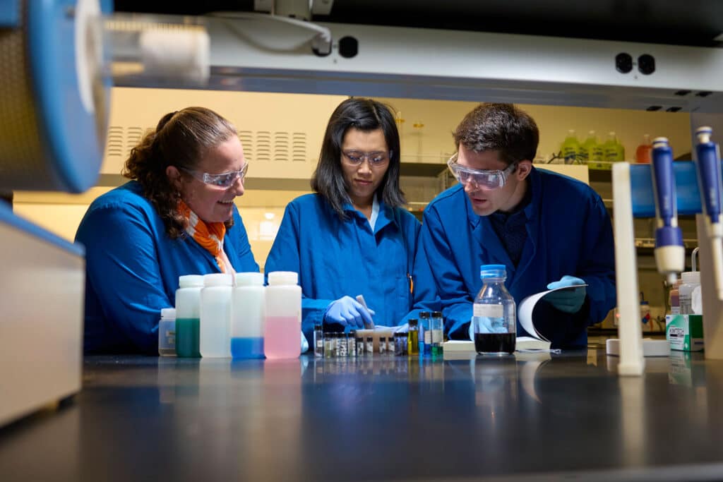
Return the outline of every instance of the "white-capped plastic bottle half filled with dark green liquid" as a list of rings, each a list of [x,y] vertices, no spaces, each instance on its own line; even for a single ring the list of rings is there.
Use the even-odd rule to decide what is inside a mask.
[[[202,275],[179,276],[176,290],[176,356],[199,358]]]

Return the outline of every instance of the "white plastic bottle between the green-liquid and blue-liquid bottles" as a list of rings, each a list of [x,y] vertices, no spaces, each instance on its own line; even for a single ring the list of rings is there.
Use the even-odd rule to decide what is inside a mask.
[[[202,357],[231,356],[231,285],[233,282],[234,278],[226,273],[212,273],[203,277],[199,337]]]

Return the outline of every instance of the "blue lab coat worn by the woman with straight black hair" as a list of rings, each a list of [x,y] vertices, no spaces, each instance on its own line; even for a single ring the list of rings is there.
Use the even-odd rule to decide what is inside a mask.
[[[314,325],[322,323],[329,304],[343,296],[363,295],[376,312],[375,324],[385,326],[416,316],[419,310],[411,312],[414,298],[434,299],[431,277],[414,270],[419,221],[406,210],[379,204],[373,232],[369,220],[351,204],[344,207],[347,219],[341,220],[319,194],[305,194],[286,206],[264,271],[299,273],[301,330],[309,345]],[[420,264],[427,269],[426,262]]]

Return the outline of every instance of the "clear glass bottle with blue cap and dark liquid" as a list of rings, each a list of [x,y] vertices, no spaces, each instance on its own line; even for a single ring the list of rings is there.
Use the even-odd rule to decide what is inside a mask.
[[[515,299],[505,288],[504,264],[479,267],[482,289],[472,306],[474,348],[477,353],[504,355],[515,351],[517,317]]]

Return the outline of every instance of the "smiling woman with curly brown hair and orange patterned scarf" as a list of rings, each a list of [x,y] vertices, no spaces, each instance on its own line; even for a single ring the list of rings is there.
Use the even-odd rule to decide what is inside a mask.
[[[234,126],[201,107],[166,114],[131,150],[131,181],[95,199],[75,236],[86,353],[158,353],[179,276],[259,270],[234,205],[247,168]]]

